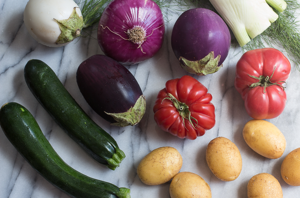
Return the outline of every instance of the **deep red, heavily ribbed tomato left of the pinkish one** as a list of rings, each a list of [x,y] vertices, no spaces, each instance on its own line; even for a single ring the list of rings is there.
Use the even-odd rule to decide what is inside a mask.
[[[179,138],[195,140],[214,127],[214,105],[207,88],[191,76],[171,79],[159,91],[153,111],[158,126]]]

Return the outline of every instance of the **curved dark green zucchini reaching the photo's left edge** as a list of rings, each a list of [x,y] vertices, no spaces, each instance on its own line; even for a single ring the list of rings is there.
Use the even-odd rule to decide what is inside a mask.
[[[17,151],[46,180],[76,198],[129,198],[130,189],[93,179],[67,165],[52,148],[32,114],[18,103],[0,109],[1,128]]]

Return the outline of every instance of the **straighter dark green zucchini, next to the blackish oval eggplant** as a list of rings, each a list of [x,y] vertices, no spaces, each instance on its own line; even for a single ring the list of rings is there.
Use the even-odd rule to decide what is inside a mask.
[[[116,141],[99,127],[64,88],[54,71],[43,61],[32,59],[24,68],[25,81],[55,122],[88,154],[112,170],[125,154]]]

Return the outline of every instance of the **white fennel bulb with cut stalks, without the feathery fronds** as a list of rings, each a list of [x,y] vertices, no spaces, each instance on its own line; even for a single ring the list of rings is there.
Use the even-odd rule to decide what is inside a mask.
[[[240,46],[264,32],[282,12],[283,0],[209,0],[232,30]]]

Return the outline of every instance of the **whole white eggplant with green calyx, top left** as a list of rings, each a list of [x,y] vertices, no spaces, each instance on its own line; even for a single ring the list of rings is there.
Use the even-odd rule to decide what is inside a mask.
[[[73,0],[29,0],[24,24],[39,43],[60,47],[80,35],[83,18]]]

